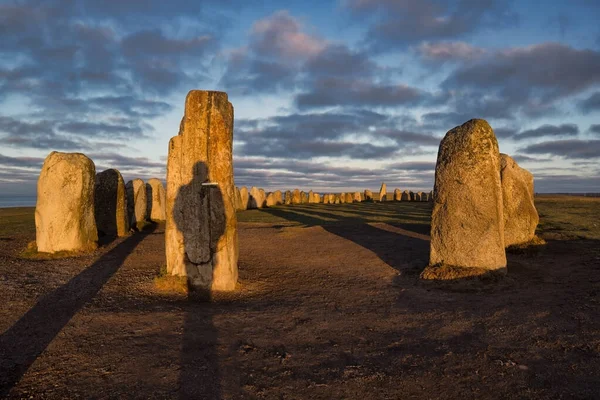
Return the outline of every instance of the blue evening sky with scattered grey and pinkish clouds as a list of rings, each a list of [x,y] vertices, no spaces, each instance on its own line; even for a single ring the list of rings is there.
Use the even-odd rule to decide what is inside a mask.
[[[597,0],[0,0],[0,195],[51,151],[165,179],[189,90],[235,110],[238,186],[430,190],[486,119],[537,192],[600,192]]]

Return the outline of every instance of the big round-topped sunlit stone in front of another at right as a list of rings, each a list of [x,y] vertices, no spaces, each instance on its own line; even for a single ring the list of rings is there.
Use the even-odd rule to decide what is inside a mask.
[[[470,120],[442,139],[434,191],[430,265],[505,271],[500,153],[486,121]]]

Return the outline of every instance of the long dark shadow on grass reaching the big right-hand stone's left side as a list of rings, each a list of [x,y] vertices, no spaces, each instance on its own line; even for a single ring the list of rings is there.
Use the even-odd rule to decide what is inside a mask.
[[[306,226],[321,226],[334,235],[374,252],[381,260],[402,273],[419,273],[429,259],[429,242],[423,237],[423,234],[429,233],[428,216],[409,218],[421,223],[384,223],[388,227],[400,228],[385,230],[377,227],[379,223],[376,219],[362,217],[362,210],[355,207],[332,205],[331,212],[322,207],[311,206],[265,208],[262,211]],[[336,214],[336,211],[346,215]],[[353,211],[359,214],[350,214]],[[376,215],[376,212],[373,214]]]

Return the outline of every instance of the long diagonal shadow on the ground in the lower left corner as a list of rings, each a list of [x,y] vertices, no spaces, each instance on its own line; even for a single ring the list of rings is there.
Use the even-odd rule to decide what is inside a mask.
[[[102,255],[65,285],[43,296],[0,336],[0,397],[6,396],[58,333],[123,265],[156,226],[133,235]]]

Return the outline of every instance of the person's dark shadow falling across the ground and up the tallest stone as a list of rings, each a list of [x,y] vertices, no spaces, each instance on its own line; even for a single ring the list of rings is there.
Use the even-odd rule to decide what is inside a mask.
[[[183,236],[183,262],[190,290],[181,348],[178,396],[181,399],[221,398],[218,332],[213,323],[216,304],[211,300],[213,257],[226,230],[221,189],[209,182],[204,162],[193,166],[192,180],[180,187],[173,220]],[[203,289],[206,288],[206,289]]]

